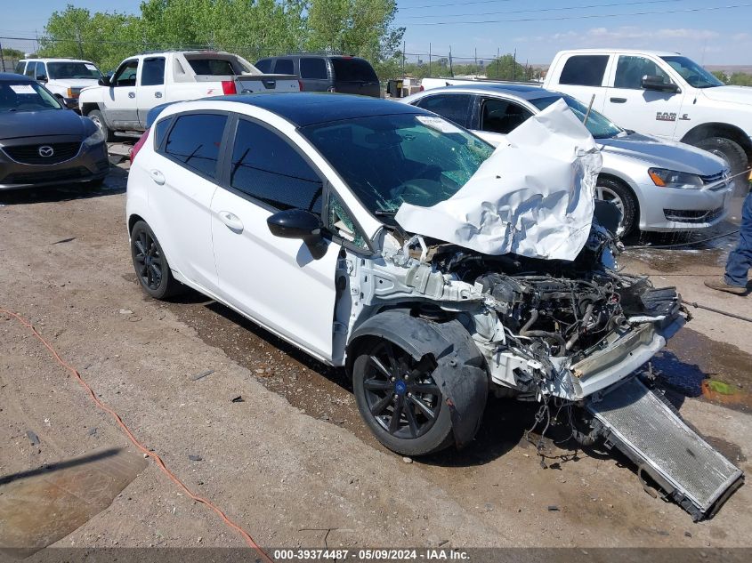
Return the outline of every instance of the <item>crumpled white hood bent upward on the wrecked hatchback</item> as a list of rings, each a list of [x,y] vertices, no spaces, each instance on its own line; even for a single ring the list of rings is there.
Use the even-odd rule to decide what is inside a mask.
[[[395,220],[480,253],[574,260],[590,233],[601,165],[593,137],[557,101],[509,133],[454,196],[402,204]]]

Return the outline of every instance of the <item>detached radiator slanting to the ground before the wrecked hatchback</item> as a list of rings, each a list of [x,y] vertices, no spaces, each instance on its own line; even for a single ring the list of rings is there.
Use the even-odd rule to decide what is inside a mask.
[[[587,410],[615,446],[697,522],[711,518],[744,481],[744,474],[700,438],[637,378],[621,383]]]

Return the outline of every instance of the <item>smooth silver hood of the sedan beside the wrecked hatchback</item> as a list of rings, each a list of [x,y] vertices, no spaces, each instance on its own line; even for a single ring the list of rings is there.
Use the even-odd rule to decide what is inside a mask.
[[[630,133],[612,139],[597,139],[603,158],[609,155],[643,160],[646,166],[667,168],[709,176],[719,173],[726,167],[724,161],[707,150],[697,149],[683,142],[664,141],[657,137]]]

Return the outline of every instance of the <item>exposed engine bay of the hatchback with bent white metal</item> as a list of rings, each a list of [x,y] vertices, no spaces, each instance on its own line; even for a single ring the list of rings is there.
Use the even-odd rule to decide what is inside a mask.
[[[497,394],[585,398],[641,366],[685,322],[673,288],[619,274],[619,244],[594,225],[575,261],[483,255],[384,234],[382,258],[348,267],[351,329],[364,310],[460,321],[487,360]],[[602,366],[592,358],[605,356]],[[602,369],[601,369],[602,368]]]

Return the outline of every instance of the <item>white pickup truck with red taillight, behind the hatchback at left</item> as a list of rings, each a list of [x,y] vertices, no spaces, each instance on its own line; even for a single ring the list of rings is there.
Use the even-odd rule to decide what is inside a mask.
[[[149,110],[169,101],[299,91],[297,76],[263,74],[230,52],[160,52],[125,59],[111,78],[81,91],[78,108],[113,141],[115,132],[139,136]]]

